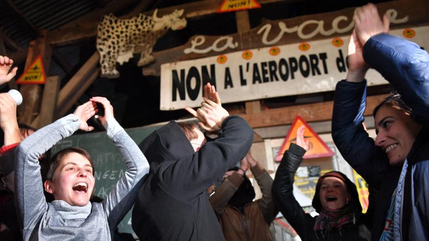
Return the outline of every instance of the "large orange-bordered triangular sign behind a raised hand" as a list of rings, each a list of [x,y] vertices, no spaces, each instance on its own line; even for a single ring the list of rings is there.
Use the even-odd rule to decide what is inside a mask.
[[[308,151],[305,153],[303,158],[317,158],[317,157],[327,157],[333,156],[332,150],[326,145],[326,143],[320,139],[319,135],[301,118],[301,116],[297,115],[294,123],[289,129],[288,135],[284,138],[283,144],[278,151],[276,156],[276,161],[281,161],[283,158],[284,151],[289,149],[291,143],[296,143],[296,131],[298,128],[304,125],[304,139],[309,141]]]

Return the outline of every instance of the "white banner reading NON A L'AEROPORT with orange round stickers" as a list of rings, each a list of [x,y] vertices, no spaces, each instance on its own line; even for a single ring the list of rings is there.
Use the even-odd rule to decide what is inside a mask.
[[[393,30],[429,46],[429,27]],[[264,47],[161,65],[161,110],[198,107],[203,85],[216,85],[222,103],[331,91],[347,74],[349,36]],[[368,85],[387,81],[370,69]]]

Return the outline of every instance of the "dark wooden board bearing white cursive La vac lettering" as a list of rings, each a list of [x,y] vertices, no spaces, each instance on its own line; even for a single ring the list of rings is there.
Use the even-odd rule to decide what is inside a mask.
[[[385,2],[385,3],[379,3],[376,4],[378,10],[380,13],[384,14],[389,9],[394,9],[397,11],[397,19],[403,18],[408,16],[408,21],[404,23],[391,23],[391,29],[398,29],[398,28],[406,28],[406,27],[416,27],[418,25],[427,25],[429,23],[429,15],[425,13],[425,9],[429,9],[429,1],[426,0],[399,0],[399,1],[392,1],[392,2]],[[257,49],[259,47],[268,47],[271,45],[267,45],[262,40],[263,34],[265,34],[265,31],[263,28],[264,26],[271,26],[271,30],[269,31],[268,40],[273,40],[277,37],[277,35],[281,32],[280,28],[278,27],[280,23],[282,23],[284,26],[287,26],[288,28],[293,27],[299,27],[302,25],[303,22],[309,21],[309,20],[316,20],[316,21],[323,21],[324,22],[324,30],[331,30],[332,29],[332,21],[333,19],[337,18],[338,16],[345,16],[347,20],[342,20],[339,22],[339,28],[345,28],[350,24],[353,17],[353,12],[355,8],[346,8],[338,11],[333,12],[327,12],[327,13],[319,13],[319,14],[311,14],[311,15],[303,15],[303,16],[297,16],[293,18],[288,19],[281,19],[281,20],[264,20],[261,25],[243,33],[235,33],[235,34],[229,34],[225,35],[228,37],[231,37],[234,42],[238,43],[238,45],[234,48],[228,48],[222,52],[216,52],[213,51],[213,49],[209,49],[210,51],[207,53],[189,53],[184,54],[185,49],[190,49],[190,47],[193,45],[192,42],[195,40],[195,37],[192,37],[188,40],[187,43],[173,47],[168,50],[162,50],[153,52],[152,55],[155,57],[155,61],[145,66],[142,71],[143,75],[152,75],[152,76],[159,76],[160,75],[160,66],[164,63],[173,63],[178,61],[184,61],[184,60],[193,60],[193,59],[199,59],[199,58],[206,58],[210,56],[218,56],[221,54],[228,54],[233,53],[237,51],[243,51],[243,50],[250,50],[250,49]],[[316,24],[309,24],[304,29],[304,33],[311,33],[314,31],[319,25]],[[237,28],[240,28],[240,25],[237,25]],[[263,32],[259,32],[260,30],[264,30]],[[320,39],[327,39],[327,38],[333,38],[337,36],[344,36],[349,35],[351,33],[352,29],[350,31],[345,33],[334,33],[330,36],[325,36],[321,34],[320,32],[316,34],[314,37],[309,39],[302,39],[297,35],[296,31],[292,31],[291,33],[284,33],[280,39],[278,39],[277,42],[275,42],[275,45],[284,45],[284,44],[291,44],[291,43],[298,43],[303,41],[313,41],[313,40],[320,40]],[[316,31],[318,32],[318,31]],[[222,36],[222,37],[225,37]],[[221,36],[209,36],[204,35],[203,36],[205,41],[201,45],[197,47],[198,50],[205,50],[208,47],[211,47],[212,44],[217,41]]]

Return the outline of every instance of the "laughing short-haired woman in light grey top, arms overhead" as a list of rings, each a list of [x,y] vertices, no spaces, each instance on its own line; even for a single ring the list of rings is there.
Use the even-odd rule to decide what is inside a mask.
[[[86,121],[101,103],[100,121],[125,159],[127,171],[102,203],[91,203],[93,163],[79,148],[57,153],[42,183],[39,156],[78,129],[90,131]],[[138,189],[149,172],[146,157],[113,117],[106,98],[94,97],[73,114],[46,126],[23,140],[16,151],[15,202],[24,240],[111,240],[116,225],[134,204]],[[54,196],[47,203],[43,189]]]

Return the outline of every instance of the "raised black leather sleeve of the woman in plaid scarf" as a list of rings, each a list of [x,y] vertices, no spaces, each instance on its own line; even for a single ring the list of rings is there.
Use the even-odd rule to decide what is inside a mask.
[[[277,168],[273,182],[273,199],[284,218],[292,225],[302,240],[316,239],[313,230],[315,219],[302,210],[293,195],[295,173],[302,162],[305,149],[291,143]]]

